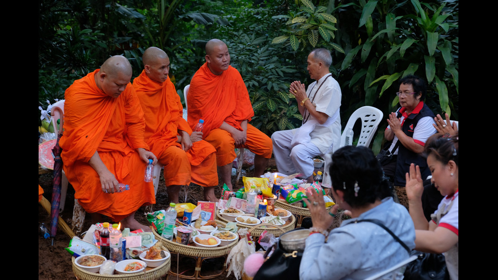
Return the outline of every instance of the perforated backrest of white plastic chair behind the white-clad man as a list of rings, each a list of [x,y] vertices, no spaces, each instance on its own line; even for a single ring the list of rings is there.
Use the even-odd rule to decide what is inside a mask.
[[[348,120],[348,123],[346,123],[343,134],[341,134],[340,136],[339,148],[346,146],[346,137],[348,136],[348,131],[350,129],[353,129],[358,118],[361,119],[361,132],[357,146],[368,147],[368,145],[370,145],[370,142],[374,138],[377,127],[379,126],[379,123],[381,122],[383,116],[384,114],[382,113],[382,111],[375,107],[363,106],[361,108],[358,108],[353,112]]]

